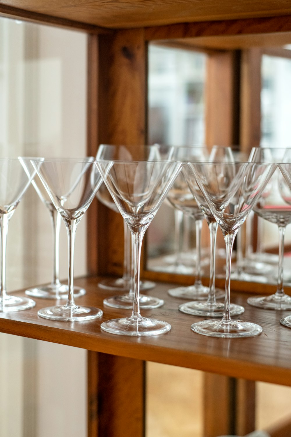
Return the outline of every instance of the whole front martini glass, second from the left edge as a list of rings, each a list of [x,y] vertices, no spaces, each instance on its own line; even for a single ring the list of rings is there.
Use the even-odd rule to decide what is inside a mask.
[[[68,232],[68,296],[65,305],[40,309],[38,315],[51,320],[83,321],[103,315],[94,307],[74,302],[74,243],[77,225],[89,208],[102,183],[94,158],[80,160],[31,161],[53,205],[60,213]]]

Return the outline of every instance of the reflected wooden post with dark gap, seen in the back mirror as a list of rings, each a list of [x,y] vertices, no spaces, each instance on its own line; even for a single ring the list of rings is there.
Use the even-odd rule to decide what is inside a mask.
[[[257,126],[257,114],[253,113],[257,111],[257,104],[252,106],[251,68],[246,70],[245,56],[241,62],[240,52],[237,51],[218,51],[209,55],[205,114],[208,146],[238,145],[240,139],[244,151],[250,145],[250,132],[246,132],[246,125],[251,122]],[[252,53],[252,56],[255,54]],[[249,75],[247,86],[244,79],[246,71]],[[243,104],[240,101],[242,95],[245,96]],[[245,105],[251,106],[252,111],[250,108],[246,111]],[[255,138],[256,135],[253,142]],[[220,245],[224,243],[221,241]],[[243,436],[251,432],[255,426],[255,383],[205,373],[204,413],[204,437],[222,434]]]

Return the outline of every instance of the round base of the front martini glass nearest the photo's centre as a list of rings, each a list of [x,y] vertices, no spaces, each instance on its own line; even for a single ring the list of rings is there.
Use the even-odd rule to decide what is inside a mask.
[[[171,325],[161,320],[139,317],[123,317],[122,319],[112,319],[101,323],[101,329],[111,334],[130,335],[130,336],[149,336],[164,334],[171,329]]]

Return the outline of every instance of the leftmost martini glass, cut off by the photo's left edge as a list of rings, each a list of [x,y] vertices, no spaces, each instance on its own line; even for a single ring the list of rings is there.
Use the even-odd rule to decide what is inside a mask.
[[[32,308],[29,298],[7,294],[6,247],[9,220],[31,183],[35,170],[29,160],[0,159],[0,232],[1,232],[1,287],[0,312],[21,311]]]

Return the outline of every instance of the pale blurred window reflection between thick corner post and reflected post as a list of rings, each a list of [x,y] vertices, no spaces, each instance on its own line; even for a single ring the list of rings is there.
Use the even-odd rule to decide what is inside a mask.
[[[203,145],[206,55],[155,44],[148,50],[148,143]],[[192,241],[193,223],[185,218]],[[166,202],[147,230],[147,268],[174,251],[174,210]],[[188,246],[188,244],[186,244]],[[171,262],[171,257],[169,257]]]

